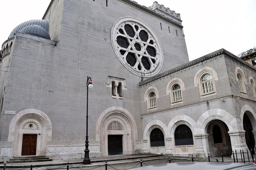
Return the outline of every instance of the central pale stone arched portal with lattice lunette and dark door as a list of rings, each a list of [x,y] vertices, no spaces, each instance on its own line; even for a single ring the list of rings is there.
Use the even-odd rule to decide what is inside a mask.
[[[96,140],[100,142],[101,156],[134,154],[136,139],[136,122],[128,110],[110,107],[101,113],[96,125]]]

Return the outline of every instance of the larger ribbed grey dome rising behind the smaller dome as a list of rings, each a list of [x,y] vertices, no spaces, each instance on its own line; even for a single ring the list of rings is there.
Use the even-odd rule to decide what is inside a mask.
[[[28,25],[38,25],[40,27],[43,27],[47,32],[49,31],[49,20],[30,20],[30,21],[23,22],[20,25],[18,25],[17,27],[15,27],[12,30],[12,32],[10,33],[8,39],[13,38],[17,31],[20,32],[20,30],[22,30],[22,28],[24,28]]]

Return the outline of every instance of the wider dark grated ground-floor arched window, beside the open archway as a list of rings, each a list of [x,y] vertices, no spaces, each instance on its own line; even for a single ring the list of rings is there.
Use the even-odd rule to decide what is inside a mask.
[[[194,145],[193,134],[187,125],[178,125],[174,132],[175,145]]]

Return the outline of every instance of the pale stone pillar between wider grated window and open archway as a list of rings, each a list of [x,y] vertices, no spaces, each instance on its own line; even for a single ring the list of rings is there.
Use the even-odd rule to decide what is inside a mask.
[[[209,144],[208,144],[208,134],[198,134],[194,135],[195,141],[194,145],[196,146],[196,155],[195,156],[208,156]]]

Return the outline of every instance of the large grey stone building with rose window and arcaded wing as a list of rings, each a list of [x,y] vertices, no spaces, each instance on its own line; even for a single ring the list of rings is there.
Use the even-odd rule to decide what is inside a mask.
[[[87,76],[91,156],[252,148],[255,73],[224,49],[189,62],[180,14],[157,2],[52,0],[2,45],[1,158],[83,157]]]

